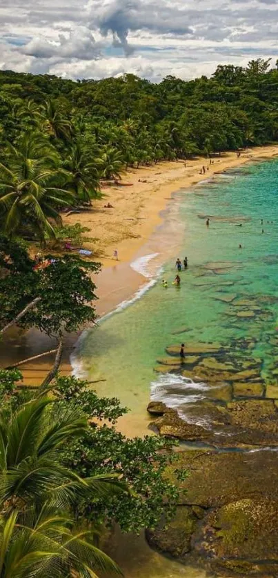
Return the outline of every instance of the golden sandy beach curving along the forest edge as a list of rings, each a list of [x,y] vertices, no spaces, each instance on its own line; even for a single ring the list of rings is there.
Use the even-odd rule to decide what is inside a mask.
[[[221,157],[212,158],[211,165],[208,159],[199,157],[186,161],[186,166],[184,161],[172,161],[138,170],[131,169],[123,175],[119,186],[103,188],[103,199],[95,201],[90,210],[63,217],[65,224],[81,223],[81,226],[90,230],[86,236],[93,240],[84,243],[84,246],[93,250],[93,258],[102,264],[101,273],[95,280],[99,297],[98,315],[104,315],[121,301],[130,299],[142,283],[146,283],[145,277],[130,268],[130,262],[158,249],[159,239],[154,242],[152,234],[163,221],[165,209],[175,205],[173,192],[181,188],[189,190],[190,186],[199,181],[213,178],[217,172],[240,166],[252,159],[263,160],[275,155],[278,155],[278,146],[267,146],[248,149],[239,158],[235,152],[223,153]],[[203,166],[208,170],[201,175]],[[112,208],[105,208],[107,203]],[[115,249],[119,261],[113,258]],[[162,257],[165,259],[165,247]],[[62,375],[71,372],[69,358],[75,341],[77,335],[69,335],[66,340]],[[1,343],[1,365],[5,367],[17,363],[54,347],[55,340],[48,339],[37,330],[30,330],[26,334],[11,332],[5,343]],[[40,383],[52,363],[52,357],[42,357],[22,366],[25,382],[30,385]]]

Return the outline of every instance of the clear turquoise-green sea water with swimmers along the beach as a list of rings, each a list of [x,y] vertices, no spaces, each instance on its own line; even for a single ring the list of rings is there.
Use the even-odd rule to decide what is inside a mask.
[[[227,344],[235,338],[255,337],[253,355],[264,359],[264,372],[271,380],[269,341],[278,335],[278,306],[267,301],[267,296],[278,296],[278,161],[249,163],[216,175],[213,182],[196,186],[190,193],[181,190],[179,201],[185,234],[179,255],[165,263],[161,274],[168,288],[159,279],[142,299],[90,332],[81,348],[90,377],[106,380],[97,385],[98,392],[119,397],[132,410],[126,418],[127,432],[147,430],[150,395],[174,407],[188,400],[198,403],[206,395],[206,386],[154,372],[156,360],[166,357],[166,346],[181,341]],[[181,272],[177,288],[172,285],[175,260],[185,256],[189,266]],[[250,319],[229,315],[232,304],[219,301],[219,296],[229,295],[264,296],[263,315]],[[154,554],[148,550],[144,556],[151,564]],[[141,577],[136,560],[134,567],[130,561],[126,564],[130,578]],[[170,574],[170,568],[163,570],[159,562],[153,576],[166,578],[183,575],[183,571],[172,566]],[[188,569],[185,575],[190,574]]]

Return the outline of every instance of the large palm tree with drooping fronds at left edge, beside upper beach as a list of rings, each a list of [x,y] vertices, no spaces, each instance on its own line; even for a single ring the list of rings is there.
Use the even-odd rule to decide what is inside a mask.
[[[25,134],[19,148],[9,146],[6,164],[0,163],[0,215],[6,235],[28,226],[40,239],[55,236],[51,220],[61,223],[59,209],[74,199],[61,188],[69,177],[57,168],[58,162],[57,152],[41,134]]]

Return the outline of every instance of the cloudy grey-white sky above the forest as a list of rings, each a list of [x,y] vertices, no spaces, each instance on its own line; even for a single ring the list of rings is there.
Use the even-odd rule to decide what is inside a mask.
[[[210,75],[278,58],[278,0],[6,0],[0,70],[95,78]]]

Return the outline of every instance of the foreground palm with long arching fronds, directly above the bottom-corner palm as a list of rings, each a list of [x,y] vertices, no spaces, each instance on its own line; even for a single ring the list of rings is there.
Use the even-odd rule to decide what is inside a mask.
[[[127,491],[115,475],[80,478],[61,464],[61,449],[86,428],[86,418],[79,412],[45,397],[26,403],[12,415],[0,415],[2,514],[44,501],[64,509],[79,498]]]

